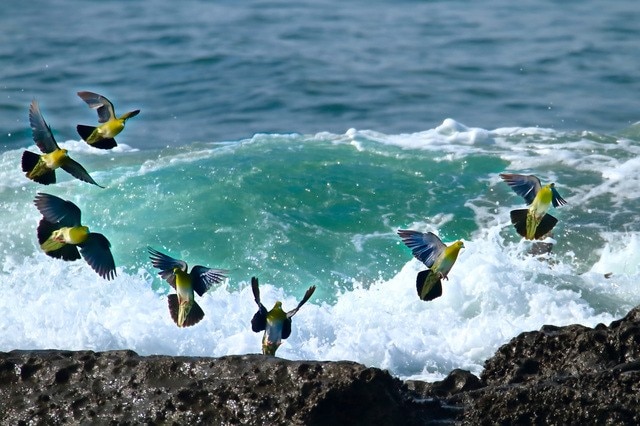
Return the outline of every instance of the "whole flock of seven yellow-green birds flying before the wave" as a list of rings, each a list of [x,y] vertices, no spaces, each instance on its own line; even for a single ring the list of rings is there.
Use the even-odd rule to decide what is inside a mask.
[[[86,91],[78,92],[78,96],[89,108],[97,111],[99,124],[79,124],[76,129],[87,144],[98,149],[117,146],[114,138],[122,132],[125,122],[140,113],[140,110],[134,110],[118,117],[113,104],[106,97]],[[29,107],[29,123],[33,140],[42,154],[24,151],[22,170],[27,178],[43,185],[53,184],[56,182],[56,169],[60,168],[76,179],[103,188],[80,163],[69,156],[66,149],[58,146],[35,100]],[[547,213],[548,210],[552,205],[558,207],[566,204],[554,184],[542,186],[540,180],[533,175],[501,174],[500,177],[529,205],[526,209],[511,211],[511,222],[518,234],[528,240],[542,239],[548,235],[558,222]],[[100,233],[90,232],[82,224],[78,206],[46,193],[37,193],[34,204],[42,214],[37,227],[37,238],[45,254],[65,261],[82,257],[102,278],[115,278],[116,266],[109,240]],[[464,248],[463,242],[456,241],[447,246],[432,232],[405,229],[398,230],[398,235],[412,250],[413,255],[427,267],[416,278],[420,299],[429,301],[440,297],[442,280],[447,279],[460,250]],[[178,327],[189,327],[200,322],[204,318],[204,312],[196,303],[195,294],[202,297],[214,284],[226,278],[227,271],[201,265],[195,265],[189,271],[184,260],[175,259],[151,247],[148,247],[148,251],[152,265],[160,270],[159,275],[176,291],[168,296],[172,320]],[[265,308],[260,300],[258,278],[251,278],[251,289],[258,305],[258,312],[251,319],[251,329],[256,333],[264,332],[262,353],[275,355],[282,340],[291,334],[292,317],[311,298],[316,287],[309,287],[296,308],[288,312],[283,310],[280,301],[271,310]]]

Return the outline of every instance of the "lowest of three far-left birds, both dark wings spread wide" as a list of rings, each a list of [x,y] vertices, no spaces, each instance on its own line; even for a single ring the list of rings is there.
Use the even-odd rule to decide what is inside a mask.
[[[42,214],[37,230],[38,242],[48,256],[77,260],[82,254],[102,278],[115,278],[116,266],[109,240],[102,234],[89,232],[89,228],[82,225],[78,206],[45,193],[38,193],[34,204]]]

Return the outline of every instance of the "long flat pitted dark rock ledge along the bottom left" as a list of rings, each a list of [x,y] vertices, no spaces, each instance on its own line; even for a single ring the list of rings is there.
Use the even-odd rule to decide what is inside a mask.
[[[404,384],[385,371],[262,355],[0,353],[0,400],[0,421],[16,425],[402,425],[427,424],[429,418],[426,406],[411,400]],[[408,407],[420,416],[412,418]]]

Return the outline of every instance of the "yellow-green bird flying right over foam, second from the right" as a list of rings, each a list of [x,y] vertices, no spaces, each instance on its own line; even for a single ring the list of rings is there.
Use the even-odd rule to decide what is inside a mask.
[[[449,246],[444,244],[432,232],[418,232],[408,229],[398,230],[402,242],[420,262],[424,263],[426,271],[418,272],[416,290],[420,300],[425,302],[442,296],[442,279],[448,279],[449,271],[458,259],[460,249],[464,248],[462,241],[456,241]]]

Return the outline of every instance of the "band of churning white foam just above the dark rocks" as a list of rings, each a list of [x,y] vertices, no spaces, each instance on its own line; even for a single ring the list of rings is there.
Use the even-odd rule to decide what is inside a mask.
[[[638,244],[637,236],[632,243]],[[633,244],[620,248],[633,250]],[[313,299],[294,317],[292,336],[278,355],[289,359],[353,360],[389,369],[404,378],[441,379],[453,368],[478,374],[485,359],[520,332],[543,324],[594,326],[615,317],[598,312],[582,289],[620,297],[622,306],[640,302],[631,294],[638,270],[625,269],[611,250],[594,273],[577,276],[553,258],[534,258],[524,247],[505,245],[497,229],[465,249],[443,282],[443,296],[418,300],[411,260],[387,281],[342,292],[335,304]],[[612,249],[616,250],[616,249]],[[635,253],[635,252],[633,252]],[[613,286],[599,271],[614,271],[626,284]],[[170,320],[165,291],[152,289],[155,272],[118,270],[107,282],[82,261],[63,262],[37,253],[7,258],[0,298],[0,350],[132,349],[140,354],[222,356],[256,353],[260,335],[249,323],[256,311],[248,283],[225,285],[198,299],[206,313],[198,325],[178,329]],[[599,276],[596,277],[596,275]],[[262,300],[293,308],[302,294],[261,284]]]

